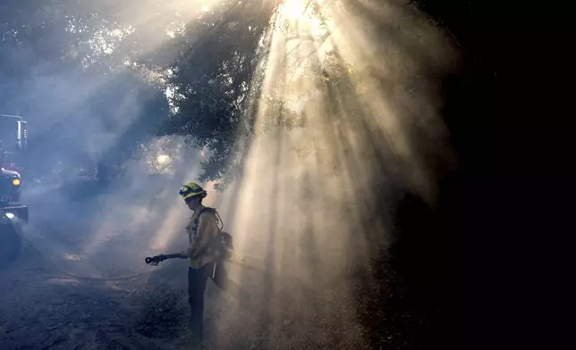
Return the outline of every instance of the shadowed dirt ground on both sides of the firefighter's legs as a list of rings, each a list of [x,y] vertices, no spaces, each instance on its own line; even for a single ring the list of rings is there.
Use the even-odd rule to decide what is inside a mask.
[[[1,348],[188,348],[186,263],[164,264],[128,279],[74,277],[25,246],[0,271]],[[294,283],[250,287],[256,302],[242,305],[208,284],[207,348],[365,348],[363,329],[334,318],[353,301]]]

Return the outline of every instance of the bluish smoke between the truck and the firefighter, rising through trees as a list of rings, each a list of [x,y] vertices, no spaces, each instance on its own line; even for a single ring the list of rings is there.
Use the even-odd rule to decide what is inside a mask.
[[[44,29],[57,54],[25,36],[19,45],[3,42],[3,62],[25,71],[0,83],[1,112],[29,122],[29,150],[18,159],[21,203],[30,207],[25,233],[60,267],[122,275],[154,247],[166,248],[170,239],[162,237],[174,235],[187,214],[174,202],[178,188],[199,174],[198,152],[183,139],[150,134],[149,125],[169,110],[168,71],[163,63],[136,63],[168,38],[163,27],[189,20],[174,12],[190,4],[172,2],[162,21],[155,2],[114,9],[79,3],[65,16],[60,5],[26,22],[32,33]]]

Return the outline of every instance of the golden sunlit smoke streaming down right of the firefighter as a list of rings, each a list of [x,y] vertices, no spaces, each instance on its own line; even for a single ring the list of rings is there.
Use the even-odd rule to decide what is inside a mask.
[[[381,285],[370,269],[394,241],[394,206],[403,191],[434,204],[453,166],[437,79],[457,61],[411,8],[322,4],[323,22],[305,1],[288,5],[300,7],[272,20],[243,177],[220,198],[237,249],[260,269],[231,275],[262,311],[250,325],[241,307],[221,314],[217,331],[223,346],[248,332],[268,347],[360,348],[373,311],[358,293]]]

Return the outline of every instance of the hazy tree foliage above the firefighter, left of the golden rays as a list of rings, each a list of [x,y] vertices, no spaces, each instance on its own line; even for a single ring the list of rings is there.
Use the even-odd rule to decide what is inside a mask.
[[[53,154],[68,151],[84,141],[72,129],[88,126],[115,132],[117,145],[73,147],[72,167],[81,159],[123,162],[149,137],[186,135],[191,146],[212,151],[203,179],[220,178],[242,152],[237,140],[250,138],[245,111],[256,110],[248,104],[258,100],[258,89],[250,88],[258,84],[255,57],[275,6],[232,1],[205,11],[175,0],[4,2],[0,110],[30,121],[30,151],[47,163],[55,162],[43,146],[48,140]],[[64,96],[61,105],[47,101],[46,88]],[[54,137],[60,130],[65,137]]]

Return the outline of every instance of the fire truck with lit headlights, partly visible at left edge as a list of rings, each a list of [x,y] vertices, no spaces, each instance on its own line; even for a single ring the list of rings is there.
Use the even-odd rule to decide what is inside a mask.
[[[20,204],[18,159],[28,147],[28,125],[20,116],[0,115],[0,266],[20,253],[20,229],[28,223],[28,207]]]

